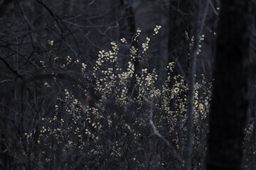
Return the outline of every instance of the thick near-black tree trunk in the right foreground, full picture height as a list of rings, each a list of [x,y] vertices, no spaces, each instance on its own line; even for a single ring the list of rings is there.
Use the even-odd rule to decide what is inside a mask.
[[[221,1],[207,169],[242,169],[247,111],[250,1]]]

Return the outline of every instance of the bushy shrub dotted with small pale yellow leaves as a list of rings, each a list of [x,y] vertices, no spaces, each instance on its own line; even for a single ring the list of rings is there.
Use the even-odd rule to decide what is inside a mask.
[[[154,28],[153,38],[160,28]],[[174,73],[175,62],[166,66],[166,80],[159,79],[155,69],[143,67],[148,65],[146,52],[151,39],[140,44],[140,33],[137,30],[134,35],[137,45],[129,47],[126,68],[119,64],[119,44],[129,45],[125,38],[111,42],[112,50],[101,50],[92,70],[67,57],[63,67],[75,64],[87,79],[87,84],[83,84],[87,88],[73,84],[87,101],[76,97],[78,92],[72,89],[60,91],[55,111],[43,116],[25,134],[28,143],[39,150],[38,154],[32,153],[39,167],[58,164],[65,169],[181,168],[171,149],[154,135],[149,120],[182,156],[186,145],[188,84],[183,76]],[[53,41],[49,43],[53,45]],[[141,69],[134,67],[136,60]],[[48,82],[45,85],[50,87]],[[194,88],[193,164],[201,167],[206,152],[211,84],[202,75]],[[32,151],[24,154],[31,156],[29,152]]]

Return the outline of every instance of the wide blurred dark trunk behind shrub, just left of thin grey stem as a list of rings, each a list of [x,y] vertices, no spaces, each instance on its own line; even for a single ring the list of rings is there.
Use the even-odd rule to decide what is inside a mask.
[[[169,59],[180,64],[178,70],[181,74],[188,74],[189,42],[185,38],[185,31],[192,34],[193,1],[170,1],[169,10]],[[182,69],[182,70],[181,70]],[[186,75],[183,75],[186,76]]]

